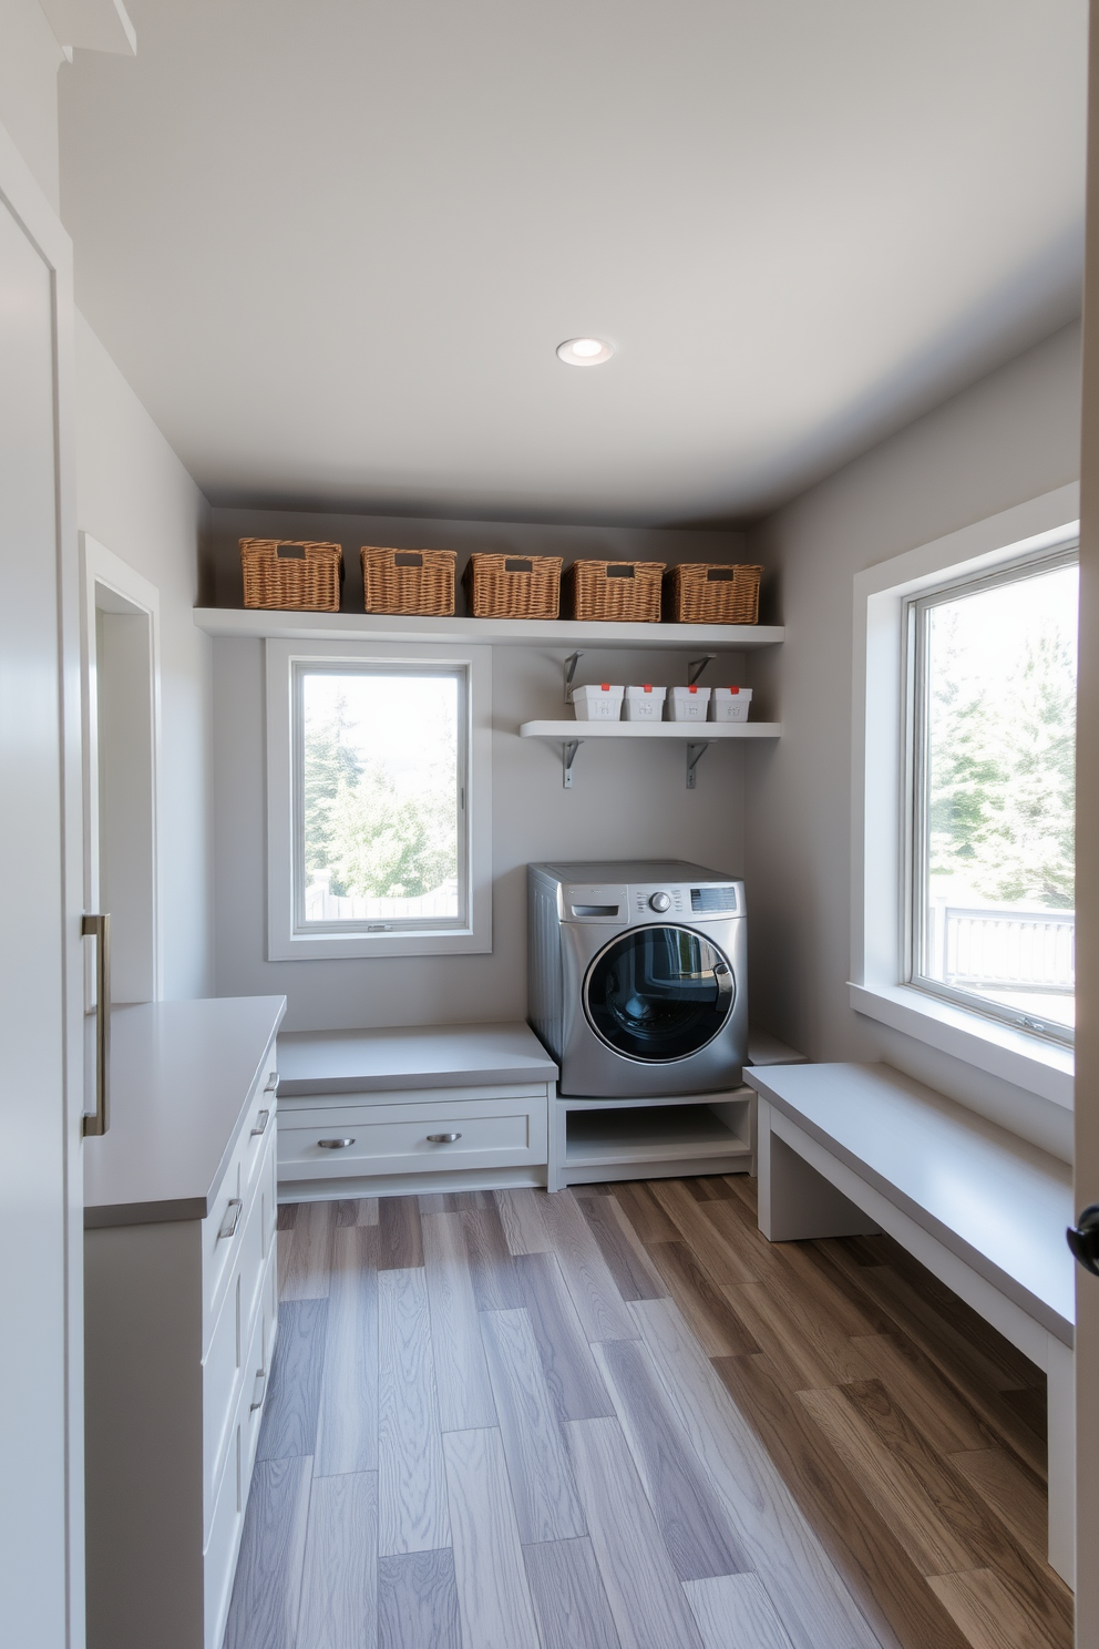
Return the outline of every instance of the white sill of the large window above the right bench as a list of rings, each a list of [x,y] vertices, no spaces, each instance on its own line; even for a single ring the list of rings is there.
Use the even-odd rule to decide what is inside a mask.
[[[855,1012],[1002,1077],[1027,1093],[1064,1110],[1073,1108],[1076,1062],[1069,1047],[995,1024],[952,1003],[939,1003],[906,984],[849,984],[849,991]]]

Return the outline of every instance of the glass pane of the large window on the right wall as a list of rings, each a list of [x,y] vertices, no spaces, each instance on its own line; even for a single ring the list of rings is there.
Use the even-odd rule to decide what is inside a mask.
[[[1078,569],[924,608],[919,971],[1071,1026]]]

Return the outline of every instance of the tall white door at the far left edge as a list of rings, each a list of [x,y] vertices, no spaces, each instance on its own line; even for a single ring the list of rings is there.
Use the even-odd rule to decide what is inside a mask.
[[[0,1644],[13,1649],[82,1644],[69,361],[68,242],[0,129]]]

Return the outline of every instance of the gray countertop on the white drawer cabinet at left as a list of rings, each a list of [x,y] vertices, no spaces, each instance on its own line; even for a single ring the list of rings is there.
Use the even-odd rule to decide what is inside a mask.
[[[86,1227],[206,1217],[285,1009],[285,996],[114,1009],[110,1128],[84,1141]]]

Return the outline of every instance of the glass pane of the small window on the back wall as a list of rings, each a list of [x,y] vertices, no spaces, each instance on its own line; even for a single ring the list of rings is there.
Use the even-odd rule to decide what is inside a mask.
[[[455,923],[456,674],[303,671],[305,922]]]

